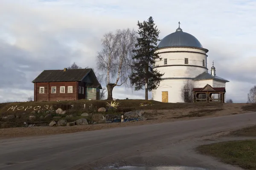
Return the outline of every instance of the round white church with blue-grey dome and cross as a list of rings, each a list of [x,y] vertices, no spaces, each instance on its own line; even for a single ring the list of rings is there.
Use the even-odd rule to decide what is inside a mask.
[[[160,41],[156,52],[162,59],[156,62],[154,69],[164,75],[159,87],[152,91],[153,100],[184,102],[181,91],[187,81],[192,81],[194,88],[204,88],[207,84],[213,88],[225,88],[229,82],[216,76],[213,65],[208,73],[208,50],[194,36],[183,32],[180,26]]]

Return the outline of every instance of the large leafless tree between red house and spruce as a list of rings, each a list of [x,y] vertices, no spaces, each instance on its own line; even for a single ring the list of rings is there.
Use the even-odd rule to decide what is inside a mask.
[[[107,84],[108,100],[113,100],[112,91],[115,86],[128,86],[135,42],[136,32],[129,28],[109,32],[102,38],[102,50],[97,54],[97,68],[102,73],[100,78]]]

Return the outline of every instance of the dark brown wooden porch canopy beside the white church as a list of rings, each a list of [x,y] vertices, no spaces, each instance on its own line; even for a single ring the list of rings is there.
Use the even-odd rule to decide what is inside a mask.
[[[193,88],[193,102],[221,102],[225,100],[225,88],[213,88],[207,84],[204,88]],[[218,98],[214,98],[218,94]]]

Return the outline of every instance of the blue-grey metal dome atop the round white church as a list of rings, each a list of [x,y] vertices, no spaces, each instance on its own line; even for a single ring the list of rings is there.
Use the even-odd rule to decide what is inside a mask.
[[[167,35],[160,41],[158,48],[163,47],[198,47],[203,48],[201,43],[196,39],[196,37],[183,32],[179,27],[176,32]]]

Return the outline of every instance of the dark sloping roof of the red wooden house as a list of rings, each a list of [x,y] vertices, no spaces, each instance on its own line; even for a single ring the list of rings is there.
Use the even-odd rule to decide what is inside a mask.
[[[67,69],[64,70],[44,70],[32,82],[76,82],[82,81],[84,77],[92,71],[91,68]]]

